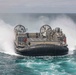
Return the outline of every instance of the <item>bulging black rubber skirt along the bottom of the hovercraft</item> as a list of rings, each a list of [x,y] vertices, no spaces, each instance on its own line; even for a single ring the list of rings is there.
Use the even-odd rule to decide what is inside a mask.
[[[66,46],[58,45],[33,45],[26,49],[18,50],[16,52],[25,56],[61,56],[68,54]]]

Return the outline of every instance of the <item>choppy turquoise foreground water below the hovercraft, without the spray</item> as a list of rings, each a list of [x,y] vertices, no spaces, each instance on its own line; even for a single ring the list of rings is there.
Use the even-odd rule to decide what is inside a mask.
[[[23,57],[0,53],[0,75],[76,75],[76,55]]]

